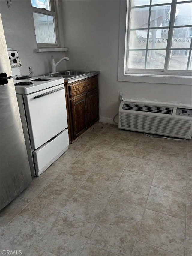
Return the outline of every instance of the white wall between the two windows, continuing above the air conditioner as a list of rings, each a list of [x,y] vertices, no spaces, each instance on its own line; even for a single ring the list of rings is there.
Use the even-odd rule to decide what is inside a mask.
[[[126,99],[191,104],[191,86],[119,82],[120,1],[62,1],[67,69],[100,70],[100,118],[113,118]],[[107,120],[107,119],[106,119]]]

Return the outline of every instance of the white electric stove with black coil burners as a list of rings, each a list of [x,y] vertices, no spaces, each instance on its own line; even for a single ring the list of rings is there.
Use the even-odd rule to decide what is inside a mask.
[[[62,77],[13,76],[32,176],[39,176],[69,146]]]

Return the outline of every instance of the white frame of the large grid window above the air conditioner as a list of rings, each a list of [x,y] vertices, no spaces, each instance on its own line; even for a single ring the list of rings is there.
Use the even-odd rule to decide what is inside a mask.
[[[151,70],[151,69],[145,69],[143,71],[141,70],[138,71],[138,69],[135,69],[135,70],[132,69],[130,71],[126,71],[126,68],[127,68],[126,58],[127,58],[127,50],[128,50],[128,47],[127,47],[128,46],[128,28],[129,28],[128,27],[129,24],[127,22],[128,20],[127,15],[130,15],[130,11],[131,11],[131,8],[129,8],[129,2],[130,1],[121,1],[121,5],[120,5],[118,80],[128,81],[128,82],[167,83],[167,84],[170,83],[170,84],[191,85],[191,71],[183,72],[183,71],[169,70],[167,72],[167,71],[159,71],[159,70]],[[172,30],[172,33],[169,33],[169,34],[170,34],[169,37],[171,37],[173,34],[173,30]],[[170,51],[169,51],[169,54],[170,54]]]

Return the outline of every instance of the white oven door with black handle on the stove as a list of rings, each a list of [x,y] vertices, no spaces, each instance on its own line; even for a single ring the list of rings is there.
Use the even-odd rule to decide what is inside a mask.
[[[38,149],[67,128],[64,85],[24,95],[31,146]]]

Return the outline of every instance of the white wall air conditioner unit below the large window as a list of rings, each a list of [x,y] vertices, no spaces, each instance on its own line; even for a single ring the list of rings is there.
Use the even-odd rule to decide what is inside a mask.
[[[186,106],[122,101],[118,128],[190,139],[191,112]]]

